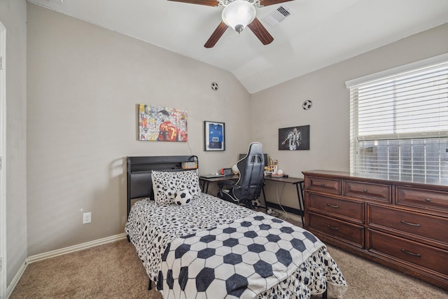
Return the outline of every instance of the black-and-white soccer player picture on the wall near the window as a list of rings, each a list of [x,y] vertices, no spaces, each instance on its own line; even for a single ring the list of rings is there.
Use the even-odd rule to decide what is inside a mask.
[[[279,150],[309,150],[309,125],[279,129]]]

